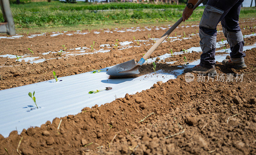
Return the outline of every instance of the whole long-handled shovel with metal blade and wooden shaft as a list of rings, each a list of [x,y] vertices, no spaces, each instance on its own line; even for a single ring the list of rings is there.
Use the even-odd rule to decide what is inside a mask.
[[[193,10],[197,8],[199,4],[201,4],[204,0],[199,0],[194,6]],[[139,67],[148,59],[148,57],[156,50],[156,48],[167,38],[168,35],[175,30],[176,27],[180,25],[182,22],[182,17],[167,31],[165,34],[147,51],[147,53],[140,59],[140,61],[136,64],[135,60],[132,59],[130,61],[124,62],[122,64],[115,65],[111,67],[106,74],[111,76],[127,76],[140,74]]]

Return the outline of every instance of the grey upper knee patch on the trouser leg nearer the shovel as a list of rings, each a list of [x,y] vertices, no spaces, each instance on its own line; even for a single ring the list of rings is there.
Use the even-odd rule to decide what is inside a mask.
[[[206,5],[199,26],[215,29],[220,21],[220,17],[223,12],[224,11],[216,7]]]

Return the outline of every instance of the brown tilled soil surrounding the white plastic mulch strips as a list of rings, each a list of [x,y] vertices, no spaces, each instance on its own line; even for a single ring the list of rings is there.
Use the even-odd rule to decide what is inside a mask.
[[[241,27],[243,24],[254,25],[253,22],[242,23]],[[198,27],[180,28],[176,31],[181,33],[186,30],[192,33],[196,29]],[[156,31],[155,37],[159,38],[163,32]],[[245,35],[252,32],[254,29],[243,30]],[[143,39],[143,35],[147,36],[143,33],[136,33],[136,37],[138,35],[138,38]],[[153,32],[150,33],[153,34]],[[93,37],[93,34],[91,35]],[[126,38],[123,41],[131,41],[132,35],[135,34],[113,33],[108,35],[121,38],[120,41],[122,37]],[[45,38],[41,38],[41,41],[36,38],[37,42],[33,43],[41,44],[43,47],[45,42],[42,42],[42,39],[47,38],[49,40],[46,42],[52,42],[58,46],[58,42],[63,39],[57,36],[53,43],[52,37],[42,37]],[[97,38],[97,41],[101,40],[98,45],[106,43],[103,40],[108,37]],[[76,38],[78,38],[77,44],[84,40],[87,40],[89,44],[92,40],[76,36],[72,38],[73,40],[65,42],[66,46],[71,46]],[[15,39],[14,41],[1,39],[0,44],[12,44],[12,48],[7,47],[4,54],[8,51],[8,54],[20,52],[21,55],[23,53],[18,51],[18,46],[22,50],[25,50],[25,46],[17,42],[28,45],[33,41],[28,40],[30,39]],[[221,37],[218,40],[220,41]],[[255,38],[245,41],[253,43]],[[163,55],[168,52],[169,48],[180,51],[181,48],[197,47],[198,42],[199,38],[195,37],[193,40],[164,43],[154,55]],[[47,50],[52,50],[51,48],[55,47],[52,45]],[[150,47],[141,46],[122,50],[122,53],[118,50],[111,50],[108,53],[76,56],[67,60],[47,60],[38,64],[20,63],[22,64],[20,66],[3,67],[0,70],[1,89],[52,79],[53,68],[59,70],[57,72],[59,76],[67,76],[115,65],[132,58],[139,59],[148,48]],[[124,98],[118,98],[100,107],[95,105],[92,108],[84,108],[77,115],[55,118],[52,122],[47,121],[40,128],[23,129],[20,135],[17,131],[12,131],[7,138],[0,135],[0,154],[17,154],[18,152],[22,154],[255,154],[255,52],[256,49],[246,51],[245,63],[248,68],[243,71],[229,69],[220,62],[216,64],[218,73],[224,73],[226,78],[229,73],[243,73],[242,82],[220,82],[216,81],[217,77],[214,81],[211,79],[207,81],[205,77],[205,82],[194,80],[187,83],[185,76],[180,75],[175,80],[158,82],[151,89],[143,90],[135,95],[127,94]],[[200,56],[198,53],[186,54],[189,61],[198,59],[198,56]],[[175,58],[179,59],[179,56]],[[7,60],[7,58],[0,59],[1,62]],[[179,63],[181,63],[180,60],[176,65],[159,63],[157,69],[167,70],[168,67],[176,67]],[[150,68],[147,65],[143,67],[146,70]],[[20,74],[13,76],[14,73]],[[195,79],[197,78],[199,77],[195,75]],[[58,130],[60,119],[62,122]]]

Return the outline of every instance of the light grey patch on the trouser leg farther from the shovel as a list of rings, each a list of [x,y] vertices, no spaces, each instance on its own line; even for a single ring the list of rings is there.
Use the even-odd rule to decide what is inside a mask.
[[[234,47],[237,43],[244,41],[242,31],[229,32],[225,27],[222,27],[223,34],[227,38],[230,47]]]

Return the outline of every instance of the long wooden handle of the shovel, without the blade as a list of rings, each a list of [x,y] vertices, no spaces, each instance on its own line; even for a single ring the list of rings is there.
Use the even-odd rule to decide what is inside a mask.
[[[198,5],[200,5],[204,0],[199,0],[196,5],[194,6],[193,10],[197,8]],[[164,39],[167,38],[168,35],[172,33],[173,30],[175,30],[176,27],[180,25],[182,22],[182,17],[171,27],[165,34],[156,41],[156,43],[147,51],[147,53],[142,57],[144,60],[148,59],[148,57],[156,50],[156,48],[164,41]],[[142,64],[141,64],[142,65]]]

